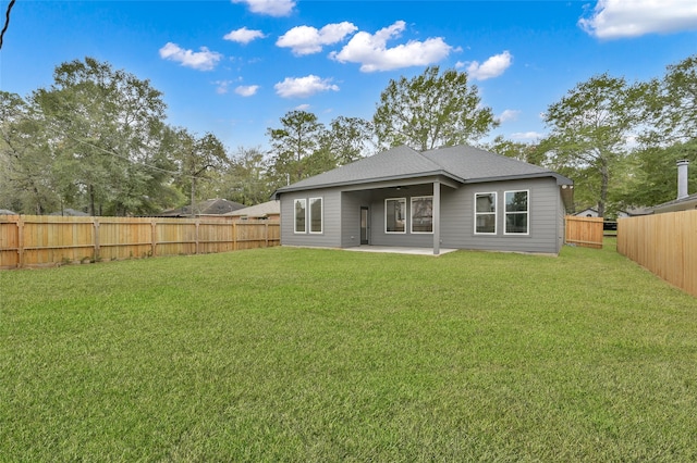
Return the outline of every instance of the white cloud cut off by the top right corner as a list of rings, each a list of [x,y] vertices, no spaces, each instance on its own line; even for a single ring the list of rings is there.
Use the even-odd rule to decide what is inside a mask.
[[[599,0],[578,25],[602,39],[697,29],[695,0]]]

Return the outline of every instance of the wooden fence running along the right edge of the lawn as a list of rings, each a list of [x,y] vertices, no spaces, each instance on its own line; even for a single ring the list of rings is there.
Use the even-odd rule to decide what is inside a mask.
[[[697,211],[621,218],[617,252],[697,296]]]

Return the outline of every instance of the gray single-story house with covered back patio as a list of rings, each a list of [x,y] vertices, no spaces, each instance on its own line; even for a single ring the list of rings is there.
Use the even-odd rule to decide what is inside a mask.
[[[279,188],[281,245],[559,253],[573,182],[457,146],[402,146]]]

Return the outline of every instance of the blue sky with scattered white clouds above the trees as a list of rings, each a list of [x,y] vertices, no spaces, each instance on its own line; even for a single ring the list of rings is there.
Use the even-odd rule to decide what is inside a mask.
[[[290,111],[371,120],[390,80],[439,66],[478,88],[501,123],[489,139],[534,142],[576,85],[660,78],[695,53],[696,0],[17,0],[0,89],[27,97],[91,57],[149,80],[170,125],[234,155],[267,150]]]

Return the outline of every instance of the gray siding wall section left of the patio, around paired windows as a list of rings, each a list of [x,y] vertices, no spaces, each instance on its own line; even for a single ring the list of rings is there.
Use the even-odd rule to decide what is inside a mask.
[[[293,208],[296,199],[305,199],[309,209],[310,198],[322,198],[322,233],[301,233],[294,230]],[[341,191],[321,189],[288,192],[281,196],[281,245],[341,247]],[[308,227],[309,229],[309,224]]]

